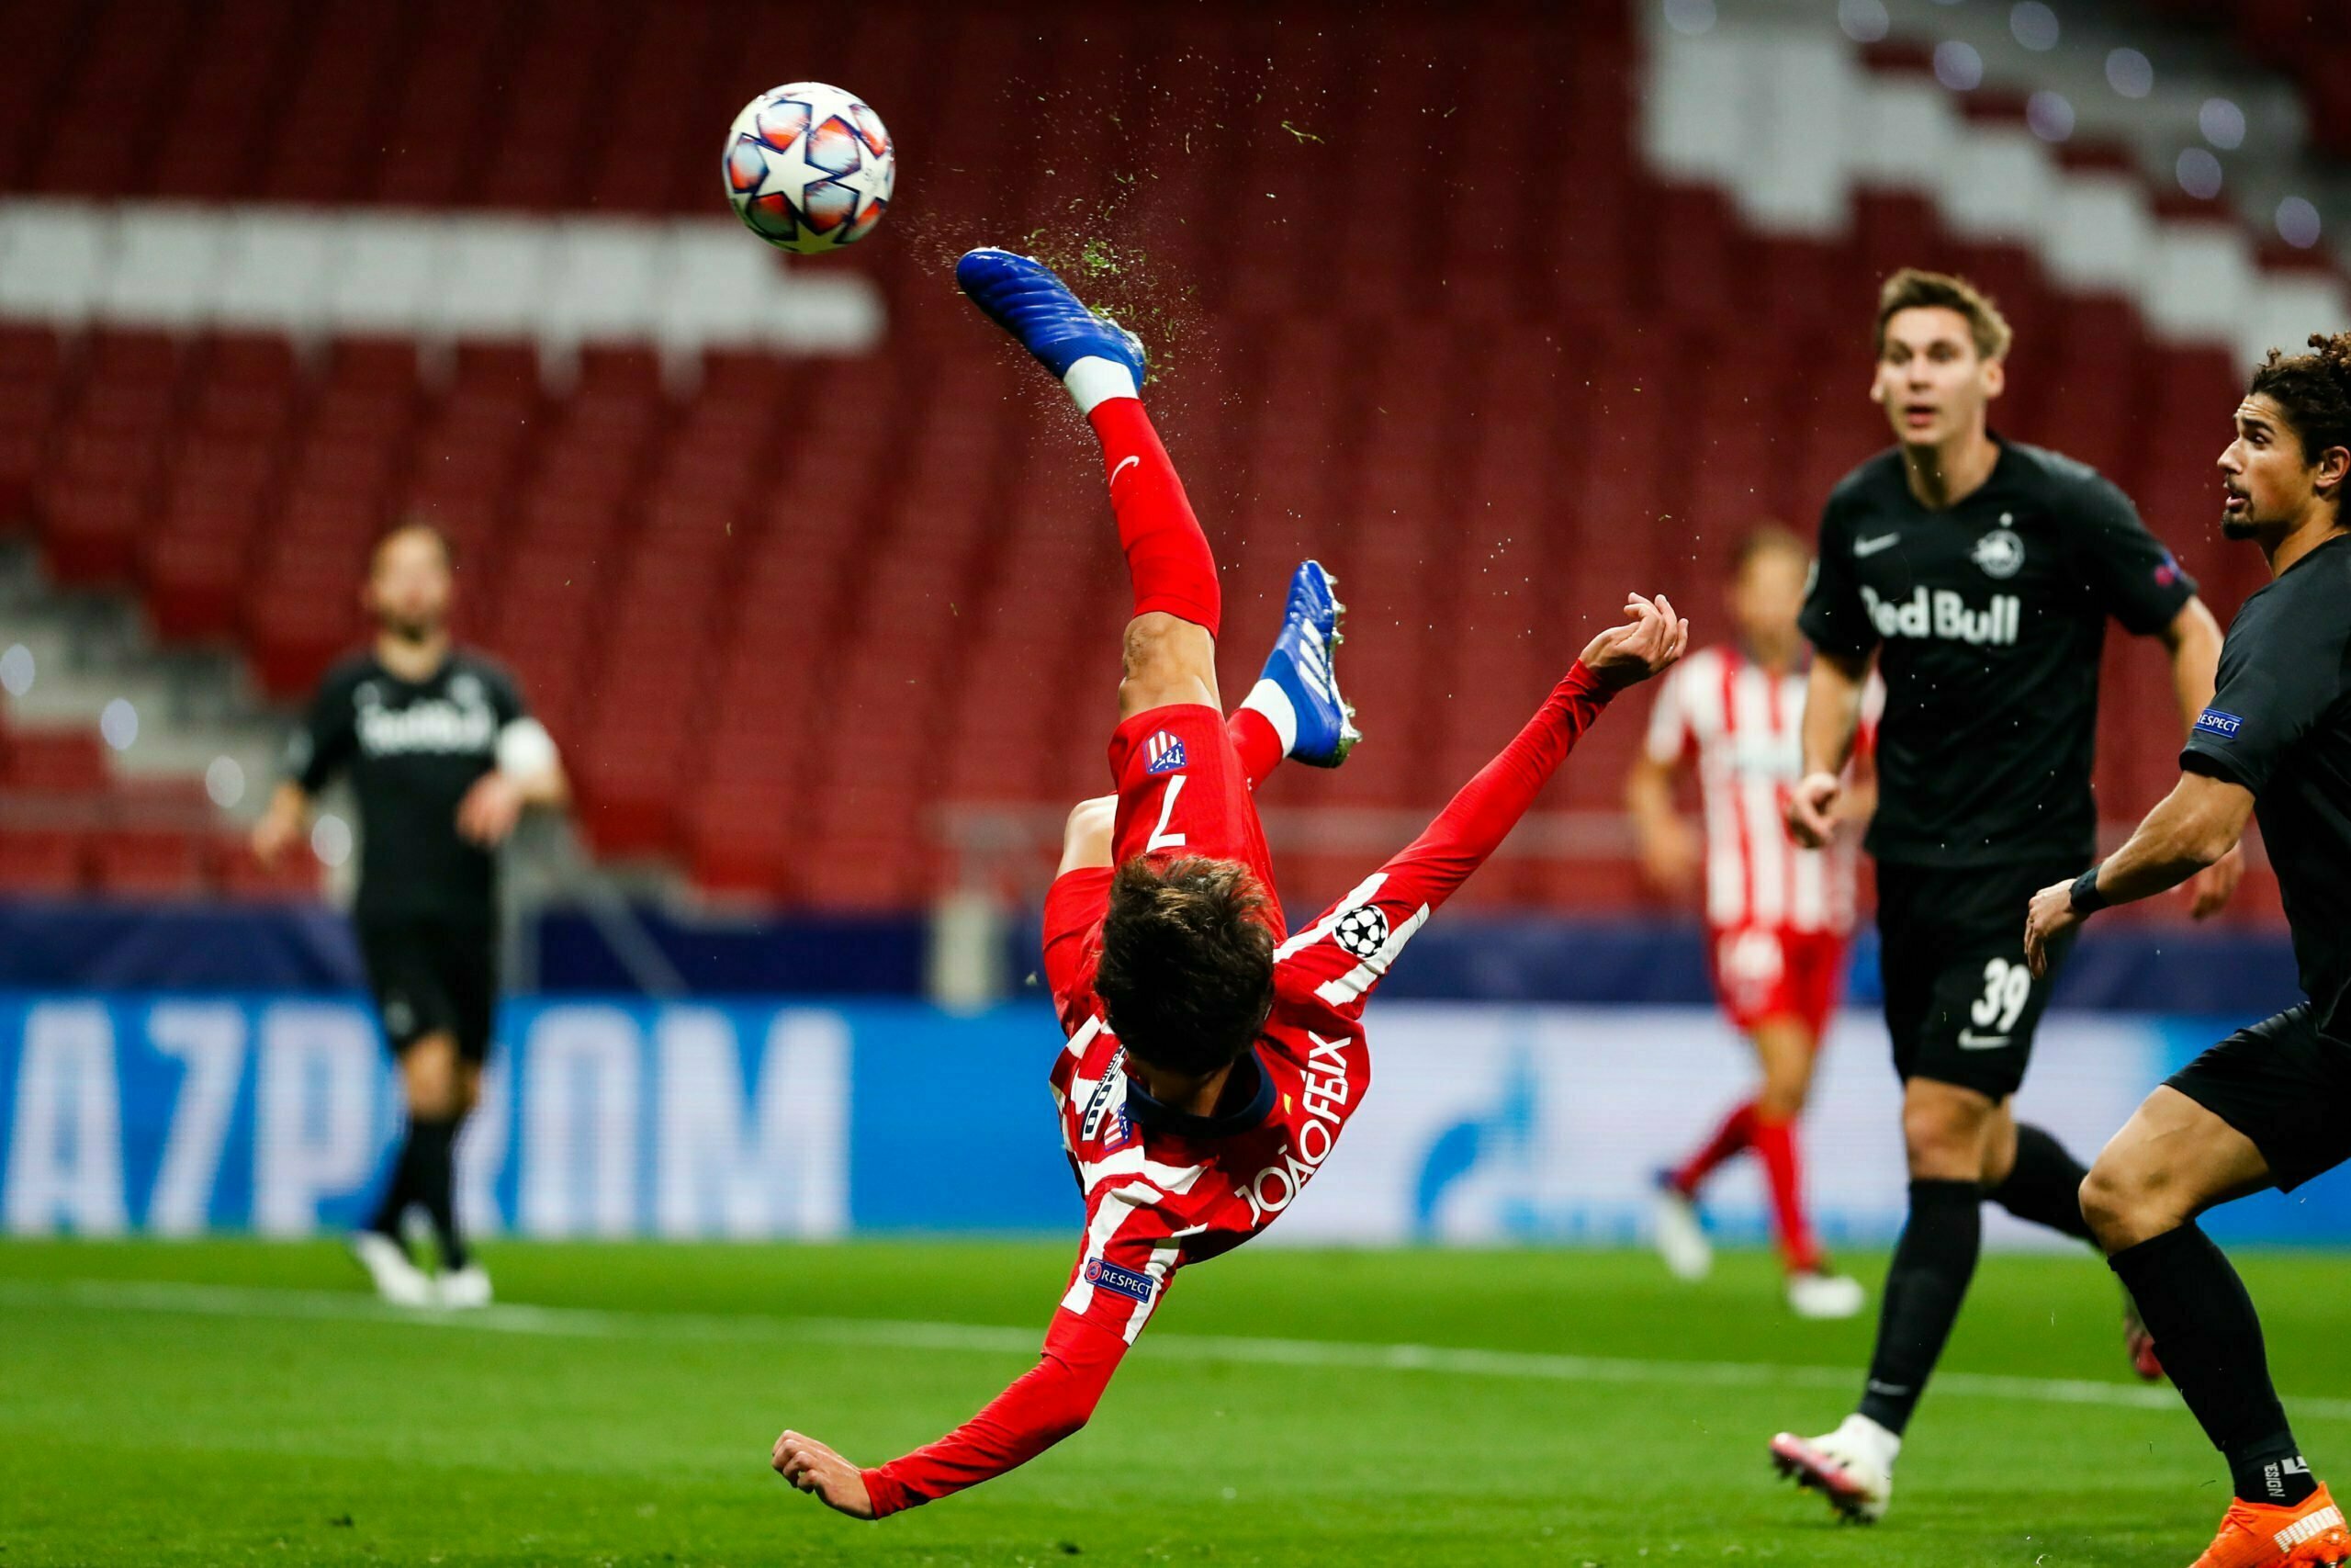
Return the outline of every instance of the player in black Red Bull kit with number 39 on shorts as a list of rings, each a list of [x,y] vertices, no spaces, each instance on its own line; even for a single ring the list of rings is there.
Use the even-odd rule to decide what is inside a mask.
[[[1895,273],[1878,294],[1869,395],[1895,447],[1838,482],[1820,517],[1803,604],[1813,672],[1803,780],[1789,827],[1836,832],[1843,769],[1871,661],[1886,1030],[1902,1077],[1909,1220],[1878,1305],[1860,1408],[1836,1432],[1773,1439],[1773,1462],[1848,1519],[1878,1519],[1895,1455],[1958,1319],[1982,1251],[1982,1206],[2090,1239],[2083,1166],[2010,1100],[2069,940],[2036,973],[2017,910],[2097,849],[2090,752],[2106,621],[2161,637],[2182,724],[2212,701],[2219,625],[2130,496],[2074,458],[1991,435],[2008,322],[1975,287]],[[2196,914],[2226,900],[2231,853],[2203,872]],[[2142,1375],[2158,1371],[2125,1307]]]

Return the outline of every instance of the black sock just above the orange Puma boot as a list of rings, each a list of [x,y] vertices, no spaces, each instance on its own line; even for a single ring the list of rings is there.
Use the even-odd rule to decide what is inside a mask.
[[[2236,1495],[2292,1505],[2318,1490],[2269,1382],[2262,1319],[2212,1237],[2191,1220],[2106,1262],[2137,1298],[2163,1371],[2229,1460]]]

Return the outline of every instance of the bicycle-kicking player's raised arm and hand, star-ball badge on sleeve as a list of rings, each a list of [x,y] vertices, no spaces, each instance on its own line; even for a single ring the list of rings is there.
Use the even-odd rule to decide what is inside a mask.
[[[1526,729],[1462,785],[1427,832],[1279,947],[1279,959],[1326,976],[1317,987],[1324,1001],[1361,1011],[1413,933],[1519,825],[1608,698],[1681,658],[1690,623],[1662,595],[1655,602],[1632,595],[1625,614],[1629,621],[1592,639]]]

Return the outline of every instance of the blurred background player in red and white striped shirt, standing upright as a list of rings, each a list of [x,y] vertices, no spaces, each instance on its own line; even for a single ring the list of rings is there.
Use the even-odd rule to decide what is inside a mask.
[[[1641,865],[1681,893],[1702,872],[1707,959],[1730,1023],[1754,1041],[1763,1086],[1733,1110],[1681,1166],[1657,1178],[1655,1237],[1681,1279],[1704,1279],[1714,1248],[1697,1192],[1730,1157],[1754,1150],[1770,1187],[1773,1234],[1787,1265],[1787,1305],[1799,1316],[1862,1309],[1862,1286],[1829,1269],[1803,1213],[1796,1119],[1813,1084],[1813,1056],[1836,1013],[1853,931],[1850,837],[1801,849],[1787,835],[1787,797],[1803,776],[1803,585],[1813,552],[1780,527],[1740,541],[1723,595],[1737,642],[1690,654],[1657,686],[1648,745],[1632,764],[1625,804],[1641,835]],[[1878,689],[1871,682],[1855,745],[1855,785],[1841,818],[1867,818],[1876,785],[1869,745]],[[1695,764],[1704,835],[1674,811],[1674,773]]]

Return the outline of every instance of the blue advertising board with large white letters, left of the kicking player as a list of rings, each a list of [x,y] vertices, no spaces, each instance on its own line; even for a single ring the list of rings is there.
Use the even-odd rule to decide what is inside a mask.
[[[501,1041],[458,1143],[458,1201],[482,1234],[1077,1218],[1044,1009],[510,1001]],[[397,1131],[393,1063],[357,999],[0,994],[9,1232],[341,1229]]]

